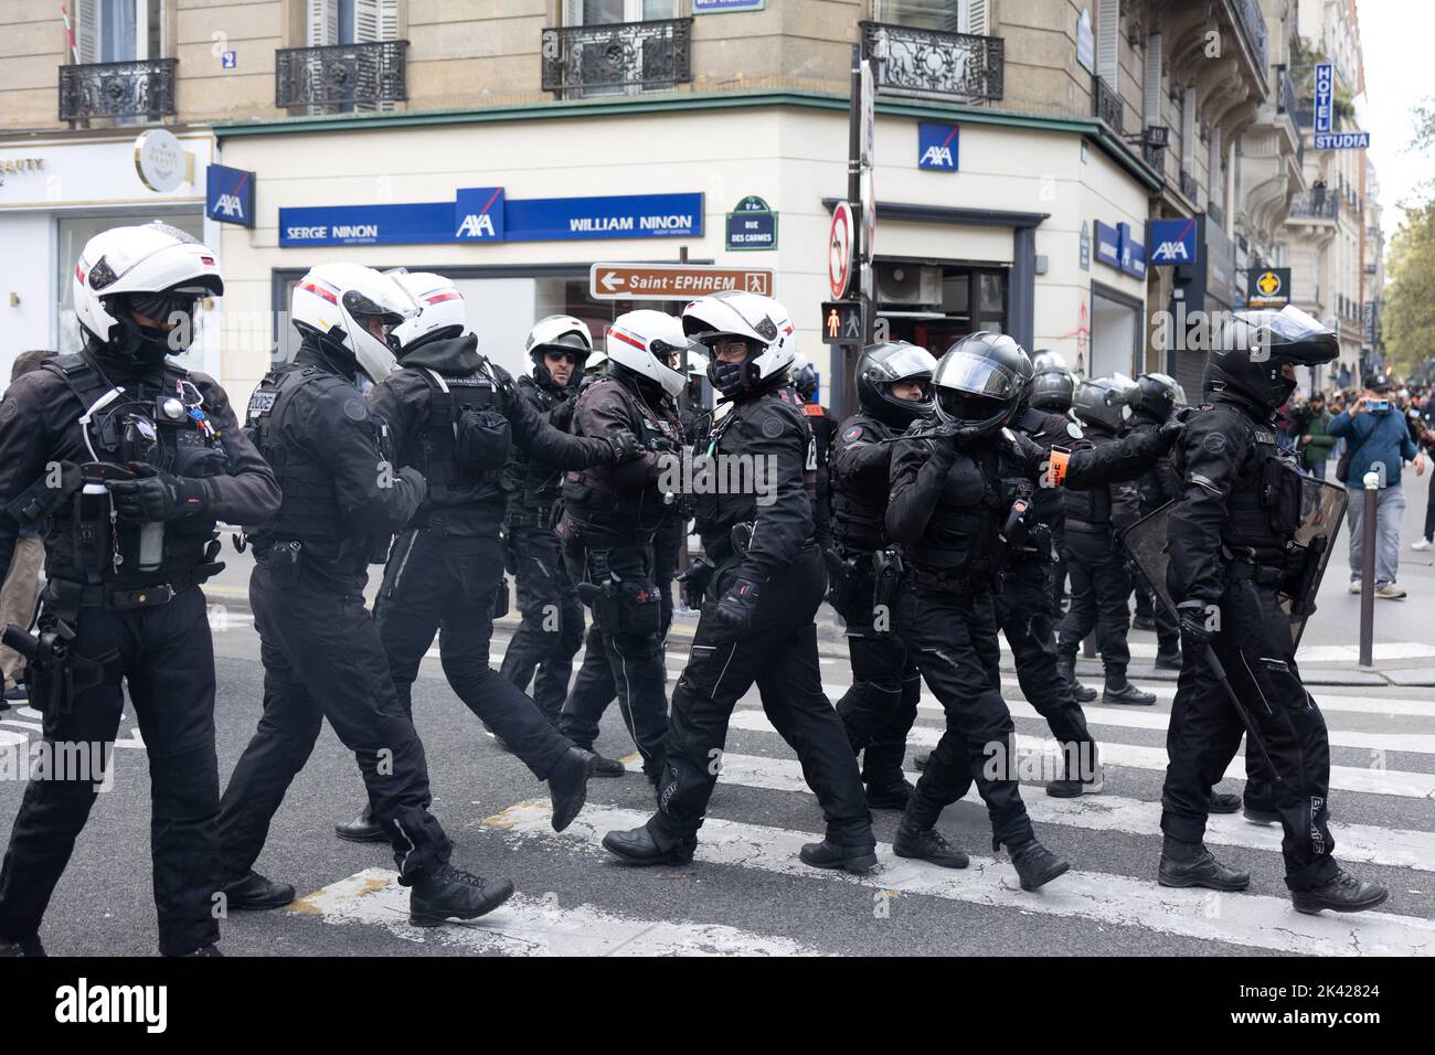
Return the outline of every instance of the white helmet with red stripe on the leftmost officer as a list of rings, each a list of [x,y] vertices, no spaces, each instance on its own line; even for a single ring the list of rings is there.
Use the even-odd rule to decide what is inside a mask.
[[[159,222],[96,234],[72,286],[76,322],[106,353],[156,362],[194,342],[199,300],[224,296],[214,250]],[[132,313],[159,326],[142,326]]]

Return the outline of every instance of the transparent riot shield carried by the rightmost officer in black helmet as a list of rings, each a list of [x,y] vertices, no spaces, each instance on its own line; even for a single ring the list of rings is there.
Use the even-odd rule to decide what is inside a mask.
[[[1167,591],[1167,530],[1171,521],[1171,511],[1175,502],[1167,502],[1155,512],[1142,517],[1122,533],[1122,543],[1131,553],[1132,560],[1151,581],[1155,596],[1172,613],[1175,601]],[[1287,577],[1289,584],[1280,591],[1280,607],[1284,609],[1290,620],[1292,647],[1300,647],[1300,637],[1306,632],[1306,622],[1316,610],[1316,593],[1320,590],[1320,580],[1326,574],[1326,564],[1335,550],[1336,537],[1340,534],[1340,524],[1345,520],[1346,489],[1336,484],[1326,484],[1314,477],[1302,481],[1300,489],[1300,527],[1296,528],[1296,545],[1302,557],[1302,567],[1292,568]]]

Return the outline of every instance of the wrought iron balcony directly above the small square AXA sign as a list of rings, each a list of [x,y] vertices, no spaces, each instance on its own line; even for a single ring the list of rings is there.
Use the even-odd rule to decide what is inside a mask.
[[[973,102],[1000,99],[1006,52],[1002,37],[943,33],[864,22],[862,44],[887,95]]]

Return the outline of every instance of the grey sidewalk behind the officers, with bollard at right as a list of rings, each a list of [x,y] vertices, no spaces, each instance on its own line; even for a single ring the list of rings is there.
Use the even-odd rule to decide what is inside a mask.
[[[1359,666],[1360,644],[1360,597],[1349,593],[1349,538],[1342,527],[1326,568],[1320,594],[1316,599],[1317,611],[1306,627],[1297,659],[1300,672],[1309,685],[1337,686],[1435,686],[1435,550],[1413,553],[1409,544],[1419,538],[1425,522],[1426,487],[1431,469],[1425,477],[1416,477],[1413,469],[1405,471],[1405,521],[1401,530],[1401,586],[1409,596],[1401,601],[1375,601],[1375,666],[1369,670]],[[253,555],[238,554],[228,543],[221,560],[227,567],[211,578],[205,587],[210,604],[248,610],[248,580]],[[382,568],[369,570],[369,587],[364,596],[373,603],[379,590]],[[517,606],[511,614],[494,622],[498,633],[512,633],[518,627]],[[697,627],[697,614],[679,610],[673,614],[669,640],[679,649],[686,649]],[[817,617],[818,649],[828,657],[847,657],[842,640],[842,624],[827,604]],[[1131,632],[1131,677],[1137,682],[1174,682],[1177,672],[1157,670],[1151,666],[1155,657],[1155,634],[1145,630]],[[1002,669],[1012,670],[1010,653],[1002,642]],[[1078,673],[1099,676],[1101,662],[1078,659]]]

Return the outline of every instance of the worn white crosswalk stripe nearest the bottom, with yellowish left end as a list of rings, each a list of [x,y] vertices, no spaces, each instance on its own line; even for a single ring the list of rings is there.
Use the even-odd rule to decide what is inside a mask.
[[[514,894],[488,916],[443,927],[409,924],[409,891],[397,873],[366,868],[298,899],[288,911],[334,924],[382,926],[405,942],[438,942],[502,956],[814,956],[819,950],[712,923],[634,920],[558,894]]]

